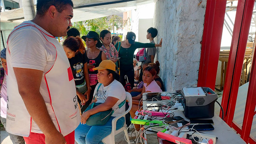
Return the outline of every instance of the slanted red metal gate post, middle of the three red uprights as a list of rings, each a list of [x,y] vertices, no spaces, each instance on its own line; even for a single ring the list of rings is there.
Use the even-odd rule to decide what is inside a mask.
[[[236,108],[236,98],[252,19],[253,5],[254,0],[239,0],[236,9],[236,19],[221,102],[224,109],[224,120],[229,126],[232,124]]]

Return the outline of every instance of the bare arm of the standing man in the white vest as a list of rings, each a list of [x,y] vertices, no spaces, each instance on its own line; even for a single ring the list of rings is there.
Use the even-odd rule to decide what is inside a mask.
[[[63,135],[57,131],[39,91],[43,71],[29,68],[13,68],[19,93],[29,115],[45,135],[45,143],[64,144]]]

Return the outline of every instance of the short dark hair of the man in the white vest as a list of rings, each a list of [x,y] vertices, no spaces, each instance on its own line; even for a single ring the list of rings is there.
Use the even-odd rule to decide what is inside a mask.
[[[57,11],[61,13],[66,8],[67,4],[74,7],[72,0],[37,0],[36,14],[40,17],[44,16],[45,12],[47,12],[51,5],[54,5]]]

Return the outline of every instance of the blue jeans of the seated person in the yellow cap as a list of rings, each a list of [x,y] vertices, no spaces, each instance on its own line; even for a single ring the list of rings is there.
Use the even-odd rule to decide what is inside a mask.
[[[112,131],[111,116],[105,125],[89,126],[87,124],[79,124],[75,130],[75,140],[78,144],[103,144],[101,140],[107,137]],[[116,130],[124,126],[124,117],[121,117],[116,122]]]

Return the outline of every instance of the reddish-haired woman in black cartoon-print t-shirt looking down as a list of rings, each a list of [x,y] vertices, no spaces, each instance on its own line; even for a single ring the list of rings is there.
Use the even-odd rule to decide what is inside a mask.
[[[83,105],[89,100],[91,86],[87,68],[87,56],[82,39],[77,37],[68,37],[63,42],[63,48],[68,57],[70,67],[76,84],[76,95],[80,104],[81,111],[85,110]],[[85,96],[86,95],[86,96]]]

